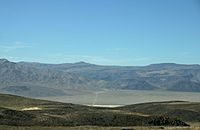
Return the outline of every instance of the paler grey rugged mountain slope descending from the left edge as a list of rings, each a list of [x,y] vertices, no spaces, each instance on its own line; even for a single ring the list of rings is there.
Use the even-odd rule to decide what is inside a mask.
[[[24,96],[65,95],[63,90],[89,89],[93,81],[79,75],[0,60],[0,91]],[[91,88],[92,89],[92,88]]]

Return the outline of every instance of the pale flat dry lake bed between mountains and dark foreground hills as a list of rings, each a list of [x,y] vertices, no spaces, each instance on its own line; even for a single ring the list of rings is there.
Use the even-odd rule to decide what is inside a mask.
[[[199,102],[200,93],[144,90],[107,90],[81,93],[71,96],[41,97],[40,99],[90,106],[115,107],[137,103],[172,100]]]

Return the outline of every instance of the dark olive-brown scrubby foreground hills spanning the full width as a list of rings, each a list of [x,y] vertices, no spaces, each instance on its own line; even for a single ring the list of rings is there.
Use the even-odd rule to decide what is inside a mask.
[[[200,121],[200,103],[162,102],[95,108],[0,95],[0,125],[8,126],[189,126]]]

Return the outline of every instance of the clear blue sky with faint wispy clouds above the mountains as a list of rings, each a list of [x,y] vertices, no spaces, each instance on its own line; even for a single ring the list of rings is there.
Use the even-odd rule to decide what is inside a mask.
[[[200,1],[0,0],[0,57],[200,64]]]

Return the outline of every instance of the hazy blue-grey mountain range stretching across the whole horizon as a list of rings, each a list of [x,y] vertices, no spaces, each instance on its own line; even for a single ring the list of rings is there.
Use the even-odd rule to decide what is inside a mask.
[[[200,65],[100,66],[85,62],[42,64],[0,59],[1,92],[35,97],[101,89],[200,92]]]

